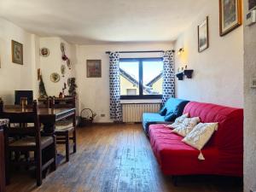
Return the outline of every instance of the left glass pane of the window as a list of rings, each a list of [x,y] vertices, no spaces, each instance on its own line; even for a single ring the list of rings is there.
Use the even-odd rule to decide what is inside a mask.
[[[120,61],[120,94],[121,96],[139,95],[139,62]]]

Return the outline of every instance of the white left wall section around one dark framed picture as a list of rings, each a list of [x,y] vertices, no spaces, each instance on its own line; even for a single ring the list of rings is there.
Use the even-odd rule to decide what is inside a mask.
[[[0,18],[0,96],[5,103],[14,103],[15,90],[34,90],[35,82],[32,79],[38,55],[35,50],[38,44],[32,35]],[[23,44],[23,65],[15,64],[11,58],[11,40]]]

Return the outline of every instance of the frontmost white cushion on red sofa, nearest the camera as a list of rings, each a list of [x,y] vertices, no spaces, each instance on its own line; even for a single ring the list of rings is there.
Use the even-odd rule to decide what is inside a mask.
[[[218,123],[200,123],[183,138],[183,143],[201,150],[212,137],[214,131],[217,131]]]

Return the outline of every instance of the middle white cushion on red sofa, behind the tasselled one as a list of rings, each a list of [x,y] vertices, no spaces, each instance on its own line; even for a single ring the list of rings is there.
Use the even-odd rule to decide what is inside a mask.
[[[180,136],[186,137],[199,122],[199,117],[186,118],[183,120],[182,124],[178,125],[172,132],[175,132]]]

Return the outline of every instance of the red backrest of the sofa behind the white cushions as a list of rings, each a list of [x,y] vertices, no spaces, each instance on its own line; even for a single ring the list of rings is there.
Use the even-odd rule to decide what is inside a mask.
[[[216,145],[225,151],[242,153],[243,109],[189,102],[183,113],[189,113],[189,117],[200,117],[202,123],[218,122],[218,131],[215,131],[207,145]]]

